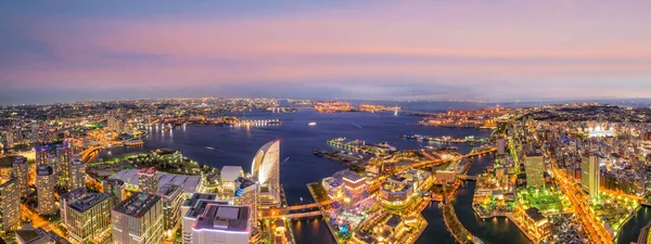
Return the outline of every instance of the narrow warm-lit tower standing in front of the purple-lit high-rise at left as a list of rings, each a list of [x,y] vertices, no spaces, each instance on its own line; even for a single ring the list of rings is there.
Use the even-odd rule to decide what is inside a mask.
[[[36,192],[38,193],[38,213],[41,215],[54,215],[54,184],[56,179],[54,170],[48,165],[36,168]]]

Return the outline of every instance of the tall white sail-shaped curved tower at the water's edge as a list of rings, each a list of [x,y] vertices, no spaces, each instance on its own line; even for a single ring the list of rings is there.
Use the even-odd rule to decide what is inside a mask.
[[[259,184],[259,206],[280,206],[280,141],[263,145],[255,154],[251,169],[253,179]]]

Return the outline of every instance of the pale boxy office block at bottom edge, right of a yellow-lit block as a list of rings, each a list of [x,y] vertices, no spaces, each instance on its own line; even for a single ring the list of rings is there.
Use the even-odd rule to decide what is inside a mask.
[[[157,195],[136,193],[113,208],[112,222],[113,243],[163,243],[163,201]]]

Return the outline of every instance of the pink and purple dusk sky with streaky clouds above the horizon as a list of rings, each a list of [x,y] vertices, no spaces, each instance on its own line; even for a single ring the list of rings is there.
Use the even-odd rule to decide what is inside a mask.
[[[3,1],[0,104],[651,98],[651,1]]]

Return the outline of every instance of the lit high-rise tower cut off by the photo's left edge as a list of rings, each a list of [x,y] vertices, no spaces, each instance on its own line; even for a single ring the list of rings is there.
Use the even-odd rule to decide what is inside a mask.
[[[0,232],[17,230],[21,227],[21,193],[17,178],[0,177]]]

